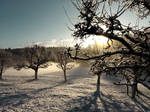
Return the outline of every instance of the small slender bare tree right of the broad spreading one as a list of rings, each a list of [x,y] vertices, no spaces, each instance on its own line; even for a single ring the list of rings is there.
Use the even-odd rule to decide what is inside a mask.
[[[58,62],[57,67],[61,68],[63,70],[64,80],[65,80],[65,82],[67,82],[66,72],[67,72],[67,70],[70,70],[73,68],[73,64],[70,64],[71,59],[67,56],[66,52],[59,51],[57,53],[57,62]]]

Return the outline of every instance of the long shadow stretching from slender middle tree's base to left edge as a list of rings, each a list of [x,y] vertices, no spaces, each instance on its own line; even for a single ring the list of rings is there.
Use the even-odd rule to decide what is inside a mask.
[[[31,80],[32,81],[32,80]],[[16,108],[19,105],[22,105],[26,102],[29,102],[35,96],[40,97],[40,92],[51,90],[57,86],[65,84],[64,82],[60,82],[54,86],[46,87],[46,88],[39,88],[35,90],[23,89],[22,92],[17,91],[16,93],[12,92],[2,92],[0,93],[0,108],[3,107],[12,107]],[[5,85],[4,85],[5,86]],[[7,86],[7,85],[6,85]],[[36,97],[37,98],[37,97]]]

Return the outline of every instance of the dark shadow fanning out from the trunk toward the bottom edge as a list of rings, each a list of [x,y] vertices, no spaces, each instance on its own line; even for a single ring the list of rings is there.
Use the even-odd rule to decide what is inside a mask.
[[[73,108],[67,112],[133,112],[137,109],[138,112],[141,112],[141,110],[149,110],[148,107],[138,107],[130,101],[122,101],[122,99],[116,99],[105,92],[100,92],[99,86],[92,95],[73,99],[69,104],[73,105]]]

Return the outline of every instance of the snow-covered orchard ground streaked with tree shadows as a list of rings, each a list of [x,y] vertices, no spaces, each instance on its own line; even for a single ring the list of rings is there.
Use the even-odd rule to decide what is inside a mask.
[[[96,76],[87,67],[76,65],[63,73],[56,64],[39,70],[35,81],[32,70],[9,69],[0,81],[1,112],[150,112],[150,91],[140,87],[143,95],[132,100],[126,89],[113,85],[113,77],[102,77],[101,92]],[[113,81],[112,81],[113,79]]]

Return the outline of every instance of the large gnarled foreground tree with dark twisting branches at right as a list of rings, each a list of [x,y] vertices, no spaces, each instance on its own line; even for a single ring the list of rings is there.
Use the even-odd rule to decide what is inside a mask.
[[[115,5],[113,4],[115,2]],[[139,27],[138,25],[131,26],[122,23],[120,17],[130,9],[138,9],[139,21],[140,17],[145,18],[149,16],[150,2],[148,0],[75,0],[72,2],[80,15],[79,22],[74,25],[73,36],[80,39],[86,39],[90,35],[104,36],[108,38],[106,50],[95,56],[80,55],[80,46],[75,47],[75,54],[73,55],[72,49],[68,48],[68,55],[72,59],[78,60],[107,60],[105,64],[106,71],[123,71],[123,75],[133,82],[142,83],[139,77],[142,71],[148,69],[150,66],[150,27]],[[114,10],[113,8],[116,10]],[[130,10],[131,11],[131,10]],[[134,10],[132,10],[134,12]],[[111,51],[107,50],[114,47],[114,41],[118,42],[121,46]],[[133,57],[133,58],[131,58]],[[135,59],[138,59],[137,61]],[[95,61],[100,63],[101,61]],[[97,64],[95,64],[97,65]],[[95,66],[96,67],[96,66]],[[136,71],[139,68],[138,74],[133,72],[132,78],[127,77],[127,69]],[[100,68],[99,68],[100,69]],[[101,71],[101,70],[100,70]],[[129,81],[128,81],[129,82]],[[129,84],[126,84],[129,85]],[[133,86],[133,89],[135,86]],[[137,90],[137,89],[136,89]],[[133,90],[134,91],[134,90]],[[135,93],[135,91],[134,91]],[[135,94],[133,93],[133,97]]]

